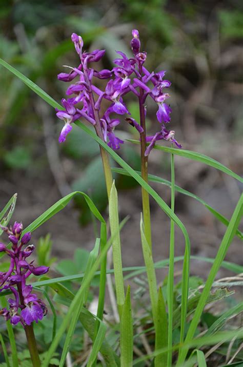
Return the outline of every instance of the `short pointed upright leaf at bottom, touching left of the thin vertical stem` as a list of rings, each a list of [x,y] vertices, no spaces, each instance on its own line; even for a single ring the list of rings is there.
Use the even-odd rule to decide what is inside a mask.
[[[157,322],[155,329],[155,351],[168,347],[168,320],[166,313],[166,305],[161,287],[158,289],[158,305],[157,305]],[[171,345],[172,347],[172,345]],[[169,348],[168,348],[169,351]],[[169,352],[168,352],[169,353]],[[167,352],[159,354],[155,357],[155,367],[167,365]]]

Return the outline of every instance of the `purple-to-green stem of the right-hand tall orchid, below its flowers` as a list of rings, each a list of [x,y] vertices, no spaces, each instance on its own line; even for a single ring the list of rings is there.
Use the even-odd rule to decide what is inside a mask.
[[[145,157],[146,150],[146,121],[145,121],[145,107],[143,105],[144,90],[139,88],[139,113],[140,113],[140,125],[144,131],[140,133],[140,153],[141,153],[141,177],[148,183],[148,157]],[[149,193],[143,187],[141,188],[142,203],[143,203],[143,218],[145,227],[145,237],[152,248],[151,239],[151,220],[150,220],[150,205],[149,205]]]

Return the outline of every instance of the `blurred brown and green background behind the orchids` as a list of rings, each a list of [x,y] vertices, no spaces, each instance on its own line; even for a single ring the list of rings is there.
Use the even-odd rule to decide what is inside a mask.
[[[131,30],[139,29],[142,49],[151,70],[167,70],[172,82],[171,129],[186,149],[196,150],[242,173],[243,9],[240,1],[61,1],[1,0],[0,57],[60,101],[67,85],[56,75],[63,65],[76,66],[70,41],[81,34],[85,48],[106,48],[101,67],[111,67],[114,50],[129,51]],[[14,219],[28,225],[71,190],[86,191],[106,210],[106,191],[98,146],[74,128],[67,142],[58,144],[62,122],[55,112],[8,71],[0,69],[0,208],[18,193]],[[100,85],[102,87],[102,84]],[[137,106],[129,102],[133,117]],[[148,129],[158,130],[156,106],[148,105]],[[125,123],[119,136],[137,138]],[[165,143],[167,144],[167,143]],[[139,152],[130,143],[119,152],[139,169]],[[239,197],[236,181],[213,168],[176,157],[176,183],[194,192],[230,218]],[[153,151],[150,172],[170,177],[169,156]],[[123,229],[124,265],[143,264],[139,239],[140,190],[116,176],[120,218],[130,215]],[[154,185],[169,203],[165,186]],[[168,257],[169,219],[151,202],[155,260]],[[192,254],[213,257],[225,227],[215,222],[200,203],[178,194],[176,213],[188,228]],[[90,249],[93,224],[83,202],[76,201],[38,229],[34,241],[51,233],[53,253],[72,258],[77,247]],[[228,260],[241,261],[234,240]],[[176,234],[176,254],[184,241]],[[201,266],[201,267],[200,267]],[[205,275],[205,264],[192,264]]]

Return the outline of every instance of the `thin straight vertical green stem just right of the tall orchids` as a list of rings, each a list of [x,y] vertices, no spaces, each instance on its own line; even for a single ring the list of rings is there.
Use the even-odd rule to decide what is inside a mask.
[[[171,210],[175,209],[175,166],[174,154],[171,154]],[[168,303],[168,355],[167,367],[172,365],[172,331],[173,331],[173,297],[174,297],[174,221],[170,224],[170,260],[169,276],[167,285],[167,303]]]

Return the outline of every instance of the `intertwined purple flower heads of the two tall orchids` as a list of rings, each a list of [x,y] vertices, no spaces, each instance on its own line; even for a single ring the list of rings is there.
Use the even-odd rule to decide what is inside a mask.
[[[146,99],[148,96],[154,100],[158,106],[157,120],[161,124],[160,131],[154,137],[147,137],[147,142],[151,142],[146,150],[146,155],[153,148],[155,141],[167,140],[175,143],[177,147],[180,144],[174,139],[174,131],[168,131],[164,123],[170,121],[171,108],[165,103],[169,94],[165,92],[171,83],[164,80],[165,71],[149,72],[144,63],[147,53],[140,52],[140,40],[137,30],[132,31],[131,48],[133,57],[128,59],[125,53],[116,51],[120,57],[114,60],[115,67],[111,70],[103,69],[97,71],[90,66],[90,63],[98,62],[105,54],[105,50],[94,50],[92,52],[83,51],[83,40],[81,36],[73,33],[71,40],[74,43],[75,50],[80,58],[77,68],[71,68],[70,73],[58,74],[58,79],[64,82],[72,82],[76,77],[78,81],[71,84],[66,94],[70,96],[67,100],[63,99],[64,110],[56,109],[57,117],[65,121],[65,125],[60,133],[59,142],[66,140],[67,134],[72,130],[72,123],[79,118],[85,118],[94,125],[96,132],[101,131],[102,138],[113,149],[119,149],[120,144],[124,143],[114,134],[114,128],[120,123],[117,115],[130,115],[127,106],[124,103],[124,96],[132,92],[139,99],[140,105],[143,105],[146,113]],[[94,84],[94,78],[107,80],[105,90],[100,90]],[[100,110],[103,100],[109,101],[110,105],[105,113],[100,116]],[[79,108],[79,104],[81,107]],[[144,129],[134,119],[126,118],[139,133]],[[97,132],[98,133],[98,132]]]

